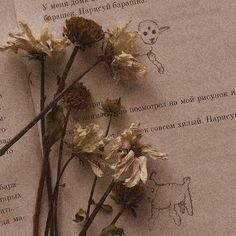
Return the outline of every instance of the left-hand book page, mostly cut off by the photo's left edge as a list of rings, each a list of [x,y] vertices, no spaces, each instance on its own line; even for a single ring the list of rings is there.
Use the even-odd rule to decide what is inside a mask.
[[[0,44],[17,29],[14,2],[0,7]],[[34,116],[24,59],[0,53],[0,146]],[[41,151],[38,133],[31,130],[0,157],[0,235],[31,235]]]

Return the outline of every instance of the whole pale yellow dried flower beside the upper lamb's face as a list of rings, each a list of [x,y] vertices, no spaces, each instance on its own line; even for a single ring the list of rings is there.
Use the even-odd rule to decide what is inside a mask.
[[[137,60],[137,32],[129,31],[128,24],[108,32],[104,56],[115,81],[129,81],[146,73],[146,67]]]

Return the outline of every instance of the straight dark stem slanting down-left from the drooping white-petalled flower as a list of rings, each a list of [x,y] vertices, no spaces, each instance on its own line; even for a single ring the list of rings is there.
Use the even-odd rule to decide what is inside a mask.
[[[88,218],[87,222],[85,223],[85,225],[84,225],[83,229],[81,230],[79,236],[86,236],[87,235],[87,231],[88,231],[89,226],[93,223],[93,221],[94,221],[95,217],[97,216],[98,212],[100,211],[103,203],[107,199],[108,195],[111,193],[111,190],[113,189],[114,185],[115,185],[115,182],[114,182],[114,180],[112,180],[112,182],[108,186],[107,190],[105,191],[105,193],[103,194],[103,196],[99,200],[97,206],[93,210],[92,214]]]

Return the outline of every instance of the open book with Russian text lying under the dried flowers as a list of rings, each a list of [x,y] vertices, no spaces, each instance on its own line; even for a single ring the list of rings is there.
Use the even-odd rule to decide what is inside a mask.
[[[120,219],[126,235],[236,235],[235,10],[234,0],[1,2],[1,44],[7,41],[9,32],[17,31],[18,21],[38,32],[47,20],[51,30],[60,34],[65,18],[71,16],[95,19],[105,28],[131,21],[129,27],[139,33],[142,61],[148,68],[145,78],[135,86],[122,87],[100,66],[99,72],[83,80],[95,94],[95,104],[107,97],[122,98],[127,113],[112,133],[131,122],[140,122],[148,142],[169,154],[167,161],[150,166],[153,175],[149,185],[153,191],[150,200],[139,208],[138,217],[127,214]],[[48,62],[47,101],[66,57]],[[39,111],[39,72],[34,62],[12,53],[1,53],[0,58],[3,146]],[[70,78],[93,61],[91,55],[81,52]],[[95,108],[81,122],[103,126],[106,118],[99,114]],[[52,167],[54,155],[57,153],[51,157]],[[0,236],[32,235],[41,164],[37,127],[1,157]],[[86,204],[91,175],[78,162],[69,167],[63,182],[66,187],[60,196],[60,235],[78,235],[80,226],[72,220]],[[99,189],[102,193],[103,186]],[[110,216],[101,213],[89,235],[98,235],[109,221]]]

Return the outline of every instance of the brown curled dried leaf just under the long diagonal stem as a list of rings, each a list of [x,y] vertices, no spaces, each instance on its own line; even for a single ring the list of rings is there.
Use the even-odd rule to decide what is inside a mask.
[[[47,131],[45,134],[45,145],[51,148],[62,136],[65,115],[61,106],[55,106],[47,115]]]

